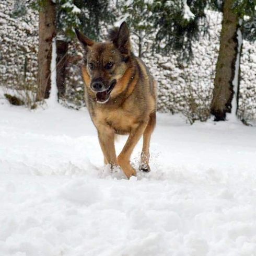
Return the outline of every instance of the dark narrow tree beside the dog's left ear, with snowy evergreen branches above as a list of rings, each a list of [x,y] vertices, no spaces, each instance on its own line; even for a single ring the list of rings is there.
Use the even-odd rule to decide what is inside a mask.
[[[57,88],[59,98],[65,96],[66,67],[72,62],[68,57],[68,47],[75,38],[74,28],[85,32],[94,40],[100,40],[101,27],[112,22],[114,16],[109,1],[104,0],[57,0]]]

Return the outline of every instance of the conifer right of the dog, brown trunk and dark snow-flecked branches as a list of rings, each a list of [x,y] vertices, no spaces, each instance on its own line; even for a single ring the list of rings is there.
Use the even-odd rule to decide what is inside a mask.
[[[207,32],[207,22],[200,27],[200,22],[206,21],[205,8],[223,11],[211,105],[215,121],[226,120],[226,113],[230,113],[232,107],[236,115],[242,31],[250,40],[255,38],[255,4],[255,0],[158,0],[152,5],[157,28],[156,50],[165,53],[177,50],[180,60],[193,56],[192,42],[199,39],[199,32]],[[243,22],[245,15],[247,22]]]

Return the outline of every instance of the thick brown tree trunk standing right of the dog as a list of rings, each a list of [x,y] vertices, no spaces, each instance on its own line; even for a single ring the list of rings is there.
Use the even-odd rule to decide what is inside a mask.
[[[211,106],[215,121],[226,120],[226,113],[231,112],[231,101],[234,96],[232,81],[235,76],[236,59],[239,57],[237,54],[239,17],[232,10],[233,4],[234,0],[224,1],[222,32]]]

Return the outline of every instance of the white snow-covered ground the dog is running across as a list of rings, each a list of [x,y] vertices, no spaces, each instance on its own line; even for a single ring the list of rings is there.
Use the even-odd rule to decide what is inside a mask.
[[[152,171],[127,180],[86,109],[1,100],[0,255],[256,255],[255,127],[157,118]]]

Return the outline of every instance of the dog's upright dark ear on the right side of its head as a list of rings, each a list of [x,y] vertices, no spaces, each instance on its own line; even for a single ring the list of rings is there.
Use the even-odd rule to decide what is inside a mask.
[[[113,40],[113,43],[121,53],[129,54],[131,50],[130,32],[125,21],[121,24],[118,36]]]

